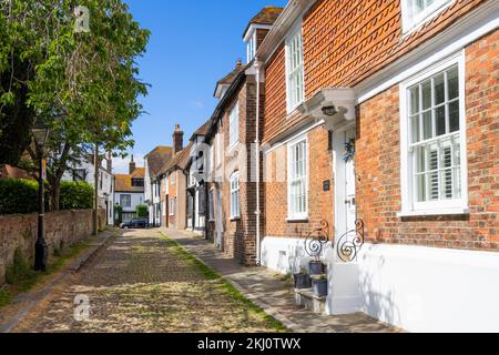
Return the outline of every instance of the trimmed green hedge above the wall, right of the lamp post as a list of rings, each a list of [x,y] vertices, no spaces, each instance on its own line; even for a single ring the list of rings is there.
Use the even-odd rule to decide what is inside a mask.
[[[88,210],[93,207],[93,186],[88,182],[61,183],[60,210]]]

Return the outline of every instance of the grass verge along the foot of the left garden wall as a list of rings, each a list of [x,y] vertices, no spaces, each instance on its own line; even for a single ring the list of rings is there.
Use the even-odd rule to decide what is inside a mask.
[[[89,247],[90,244],[85,241],[77,243],[60,252],[59,256],[54,257],[48,265],[47,272],[41,273],[30,268],[29,272],[23,273],[22,277],[0,290],[0,308],[9,305],[17,295],[27,293],[34,286],[45,282],[51,275],[61,271],[70,261]]]

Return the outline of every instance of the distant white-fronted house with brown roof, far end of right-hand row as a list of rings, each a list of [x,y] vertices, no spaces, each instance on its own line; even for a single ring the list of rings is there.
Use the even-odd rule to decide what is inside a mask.
[[[161,169],[170,162],[173,155],[172,146],[156,146],[145,155],[145,204],[149,207],[149,223],[153,226],[161,225],[163,215],[161,203]]]

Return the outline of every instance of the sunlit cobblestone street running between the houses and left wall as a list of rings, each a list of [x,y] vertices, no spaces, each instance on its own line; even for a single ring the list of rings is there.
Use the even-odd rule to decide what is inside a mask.
[[[234,297],[154,231],[111,241],[53,291],[14,332],[275,332],[278,324]],[[74,317],[88,297],[86,321]],[[84,313],[79,313],[84,315]]]

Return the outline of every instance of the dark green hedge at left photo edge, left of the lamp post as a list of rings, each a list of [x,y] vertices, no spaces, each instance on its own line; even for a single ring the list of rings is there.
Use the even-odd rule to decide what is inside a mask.
[[[0,214],[38,211],[38,183],[23,179],[0,180]]]

